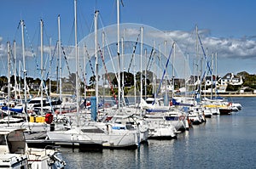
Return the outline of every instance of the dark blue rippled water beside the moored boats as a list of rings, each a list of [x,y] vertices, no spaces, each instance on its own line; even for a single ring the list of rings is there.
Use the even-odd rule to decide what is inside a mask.
[[[176,140],[149,140],[136,150],[61,149],[66,168],[256,168],[256,98],[233,115],[215,115]]]

